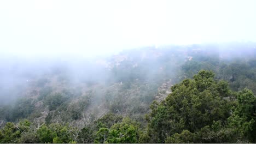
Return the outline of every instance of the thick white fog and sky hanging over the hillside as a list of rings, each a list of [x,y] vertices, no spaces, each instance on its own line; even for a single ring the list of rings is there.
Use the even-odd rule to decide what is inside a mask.
[[[144,54],[139,52],[136,56],[136,50],[143,47],[149,51],[167,47],[160,52],[164,53],[193,44],[218,44],[213,49],[217,47],[227,53],[229,46],[225,43],[256,41],[255,4],[255,1],[1,1],[1,101],[26,95],[25,89],[33,85],[31,81],[51,79],[49,75],[53,73],[65,75],[69,79],[65,85],[71,86],[81,81],[121,82],[114,81],[116,76],[111,74],[113,65],[119,63],[115,58],[120,55],[121,59],[130,58],[131,65],[137,67]],[[133,53],[128,55],[129,50]],[[162,60],[149,60],[143,62],[147,65],[143,70],[148,70],[143,72],[143,79],[156,77],[159,71],[154,68],[162,65]],[[170,67],[170,71],[175,69]]]

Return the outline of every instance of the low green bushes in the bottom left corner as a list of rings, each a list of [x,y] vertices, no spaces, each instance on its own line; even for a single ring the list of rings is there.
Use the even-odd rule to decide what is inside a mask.
[[[39,129],[31,126],[27,120],[16,125],[8,122],[0,131],[0,143],[76,143],[74,135],[78,130],[68,124],[53,123]]]

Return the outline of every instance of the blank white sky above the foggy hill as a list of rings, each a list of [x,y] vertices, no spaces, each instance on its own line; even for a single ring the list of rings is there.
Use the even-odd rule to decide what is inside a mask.
[[[0,52],[85,56],[139,46],[256,41],[256,1],[0,1]]]

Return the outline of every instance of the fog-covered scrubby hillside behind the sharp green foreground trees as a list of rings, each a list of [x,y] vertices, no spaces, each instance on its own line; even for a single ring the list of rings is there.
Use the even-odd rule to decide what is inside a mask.
[[[227,81],[230,91],[249,88],[255,93],[255,46],[236,43],[144,47],[90,59],[3,57],[0,127],[28,119],[38,129],[41,124],[69,123],[79,133],[114,113],[113,117],[129,117],[141,123],[139,128],[143,129],[153,122],[146,121],[145,115],[151,113],[155,117],[150,104],[154,100],[160,104],[168,95],[171,97],[176,83],[191,79],[200,70],[212,70],[214,80]],[[72,140],[94,142],[78,137]],[[153,137],[151,140],[159,142]]]

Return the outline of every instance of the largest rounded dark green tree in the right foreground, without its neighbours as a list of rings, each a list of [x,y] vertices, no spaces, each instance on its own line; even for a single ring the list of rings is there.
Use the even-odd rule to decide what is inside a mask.
[[[225,99],[231,97],[228,86],[214,80],[212,71],[201,70],[171,90],[164,101],[150,106],[152,112],[146,116],[153,142],[165,142],[176,133],[181,135],[182,130],[195,133],[214,121],[226,122],[230,115],[229,101]]]

